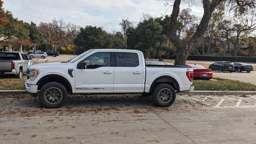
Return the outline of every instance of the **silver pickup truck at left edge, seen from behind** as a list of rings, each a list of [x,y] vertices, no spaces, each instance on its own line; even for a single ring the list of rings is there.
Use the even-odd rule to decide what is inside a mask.
[[[22,52],[0,52],[0,77],[22,78],[33,61]]]

